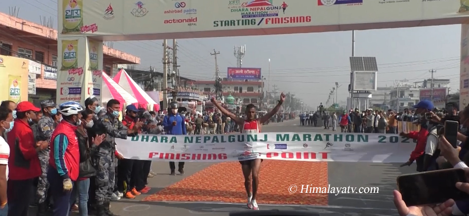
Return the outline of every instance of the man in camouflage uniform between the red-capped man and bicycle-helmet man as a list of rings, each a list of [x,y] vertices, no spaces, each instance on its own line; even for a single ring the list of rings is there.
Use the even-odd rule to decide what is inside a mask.
[[[55,129],[55,122],[52,118],[57,114],[57,108],[51,99],[41,101],[43,117],[38,121],[37,141],[51,141],[52,133]],[[47,212],[48,203],[46,201],[49,182],[47,181],[47,166],[49,165],[50,148],[38,152],[39,162],[41,164],[42,175],[38,179],[38,190],[36,192],[38,203],[38,216],[44,216]]]

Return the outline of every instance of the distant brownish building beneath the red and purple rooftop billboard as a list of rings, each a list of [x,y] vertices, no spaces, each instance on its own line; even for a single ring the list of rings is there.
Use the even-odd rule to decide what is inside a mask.
[[[215,90],[215,81],[193,81],[189,82],[194,88],[210,94]],[[261,81],[222,81],[223,96],[231,94],[235,99],[240,99],[243,105],[262,103],[263,83]]]

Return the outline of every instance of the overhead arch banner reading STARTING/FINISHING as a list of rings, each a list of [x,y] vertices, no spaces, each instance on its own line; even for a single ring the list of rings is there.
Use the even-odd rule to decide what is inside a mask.
[[[58,12],[61,35],[138,40],[455,24],[469,1],[59,0]]]

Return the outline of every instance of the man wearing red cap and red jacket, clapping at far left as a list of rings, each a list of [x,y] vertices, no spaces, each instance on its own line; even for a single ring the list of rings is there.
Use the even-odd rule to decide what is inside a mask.
[[[41,175],[38,152],[49,145],[46,141],[35,142],[29,125],[41,109],[31,102],[23,101],[16,106],[13,129],[8,132],[10,158],[8,160],[8,215],[27,216],[31,203],[34,178]]]

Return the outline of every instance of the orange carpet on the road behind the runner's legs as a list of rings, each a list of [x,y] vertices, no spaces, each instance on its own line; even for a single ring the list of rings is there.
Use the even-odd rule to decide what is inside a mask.
[[[260,171],[257,203],[327,205],[327,194],[300,193],[301,185],[327,187],[327,162],[264,160]],[[291,185],[299,186],[289,193]],[[144,201],[247,201],[239,162],[214,164]]]

